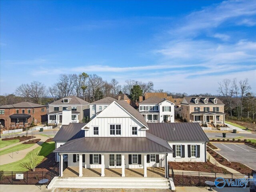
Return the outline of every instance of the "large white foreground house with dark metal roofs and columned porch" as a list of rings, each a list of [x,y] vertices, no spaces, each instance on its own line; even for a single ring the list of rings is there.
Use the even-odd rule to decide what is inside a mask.
[[[165,167],[168,161],[206,162],[208,138],[199,124],[194,123],[147,123],[144,117],[120,100],[112,102],[87,124],[70,123],[62,126],[53,139],[56,142],[56,161],[69,169],[99,168],[105,176],[105,168],[126,169]],[[174,154],[172,154],[174,153]],[[66,170],[65,170],[66,171]]]

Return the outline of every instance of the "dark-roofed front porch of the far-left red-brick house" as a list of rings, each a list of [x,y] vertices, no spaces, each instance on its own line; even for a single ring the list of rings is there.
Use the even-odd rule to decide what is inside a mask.
[[[29,114],[12,114],[10,115],[10,127],[22,128],[30,126],[31,115]]]

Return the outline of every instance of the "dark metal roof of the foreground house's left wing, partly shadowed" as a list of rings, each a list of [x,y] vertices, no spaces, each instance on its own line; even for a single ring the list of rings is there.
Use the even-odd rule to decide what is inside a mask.
[[[70,123],[62,125],[53,141],[68,141],[84,137],[84,130],[81,130],[87,123]]]

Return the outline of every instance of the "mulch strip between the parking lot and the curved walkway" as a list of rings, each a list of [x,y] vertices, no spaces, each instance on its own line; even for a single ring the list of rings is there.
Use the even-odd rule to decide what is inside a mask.
[[[206,148],[208,153],[210,153],[214,159],[216,159],[220,164],[232,168],[240,173],[256,173],[254,170],[250,169],[246,165],[238,162],[229,162],[220,154],[216,153],[215,151],[211,150],[209,147]]]

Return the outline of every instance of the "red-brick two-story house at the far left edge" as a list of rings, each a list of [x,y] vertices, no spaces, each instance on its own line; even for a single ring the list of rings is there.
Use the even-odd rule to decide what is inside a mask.
[[[46,106],[21,102],[0,106],[0,122],[9,128],[22,128],[46,121]]]

